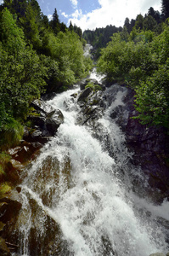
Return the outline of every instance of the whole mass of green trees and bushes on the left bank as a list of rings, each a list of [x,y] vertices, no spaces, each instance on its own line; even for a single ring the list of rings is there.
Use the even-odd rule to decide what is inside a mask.
[[[36,0],[4,0],[0,22],[0,148],[6,149],[20,142],[33,99],[46,89],[65,90],[93,64],[83,55],[82,30],[68,31],[56,9],[49,22]]]

